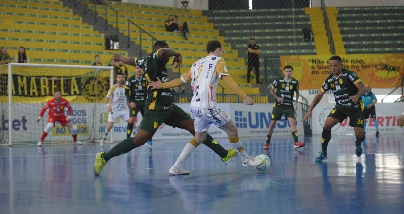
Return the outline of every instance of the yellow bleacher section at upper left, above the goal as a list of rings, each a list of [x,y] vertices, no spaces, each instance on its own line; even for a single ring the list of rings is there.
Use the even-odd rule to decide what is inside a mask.
[[[31,63],[91,65],[94,55],[108,64],[116,52],[106,51],[104,34],[59,1],[2,0],[0,7],[0,43],[11,57],[24,46]]]

